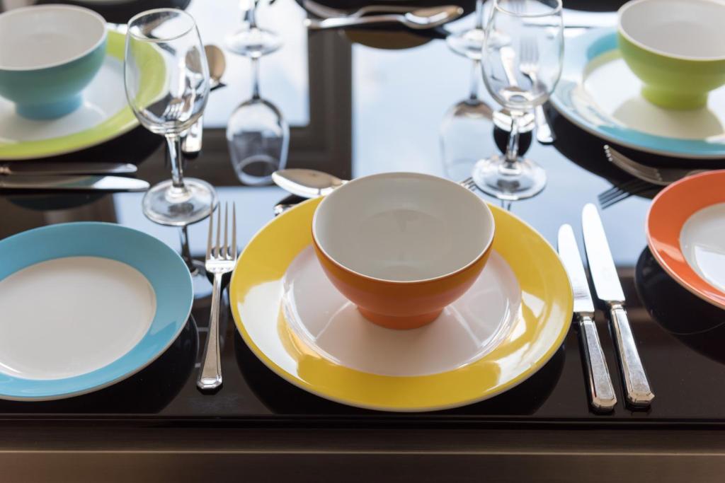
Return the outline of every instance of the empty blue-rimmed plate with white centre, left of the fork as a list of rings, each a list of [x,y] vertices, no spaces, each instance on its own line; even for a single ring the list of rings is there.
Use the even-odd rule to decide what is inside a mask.
[[[117,224],[0,240],[0,399],[52,400],[129,377],[191,312],[191,276],[156,238]]]

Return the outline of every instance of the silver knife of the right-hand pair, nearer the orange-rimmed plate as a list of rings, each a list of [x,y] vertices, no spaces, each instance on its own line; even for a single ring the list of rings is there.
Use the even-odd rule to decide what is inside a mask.
[[[584,230],[584,246],[587,248],[589,272],[592,273],[597,297],[609,306],[610,323],[617,346],[627,401],[632,406],[649,406],[655,395],[647,380],[642,360],[639,358],[637,344],[634,343],[634,335],[632,335],[629,319],[627,319],[624,309],[624,291],[614,266],[612,253],[609,250],[602,220],[597,207],[592,203],[584,206],[581,214],[581,226]]]

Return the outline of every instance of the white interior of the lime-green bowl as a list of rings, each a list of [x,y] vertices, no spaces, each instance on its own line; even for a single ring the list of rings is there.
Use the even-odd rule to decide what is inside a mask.
[[[621,31],[659,54],[687,59],[725,57],[725,2],[634,0],[620,9]]]

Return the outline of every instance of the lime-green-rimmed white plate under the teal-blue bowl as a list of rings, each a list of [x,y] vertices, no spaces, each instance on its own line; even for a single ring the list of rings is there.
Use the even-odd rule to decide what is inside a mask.
[[[124,50],[125,35],[109,31],[106,59],[83,91],[83,106],[60,119],[22,118],[15,114],[12,102],[0,97],[0,160],[72,153],[117,138],[138,126],[125,96]],[[152,46],[145,46],[145,50],[149,57],[159,56]],[[148,78],[142,80],[142,85],[139,96],[150,102],[162,92],[163,79]]]

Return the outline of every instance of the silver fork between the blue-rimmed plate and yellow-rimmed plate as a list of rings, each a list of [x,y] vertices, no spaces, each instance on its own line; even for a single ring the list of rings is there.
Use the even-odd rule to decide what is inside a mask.
[[[224,205],[224,245],[221,245],[222,210],[217,208],[217,243],[212,245],[214,231],[214,213],[209,217],[209,239],[207,240],[207,272],[214,274],[212,289],[212,313],[209,319],[207,346],[204,348],[202,368],[196,386],[200,390],[210,391],[222,385],[222,365],[219,350],[219,307],[221,305],[222,276],[231,272],[236,263],[236,204],[231,206],[231,246],[228,240],[229,203]]]

